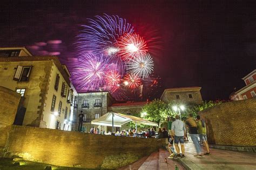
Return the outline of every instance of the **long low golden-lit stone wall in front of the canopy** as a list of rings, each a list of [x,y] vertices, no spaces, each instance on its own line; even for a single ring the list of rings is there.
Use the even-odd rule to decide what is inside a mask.
[[[125,166],[164,144],[164,139],[114,137],[14,125],[9,132],[5,157],[18,155],[25,160],[52,165],[107,169]]]

